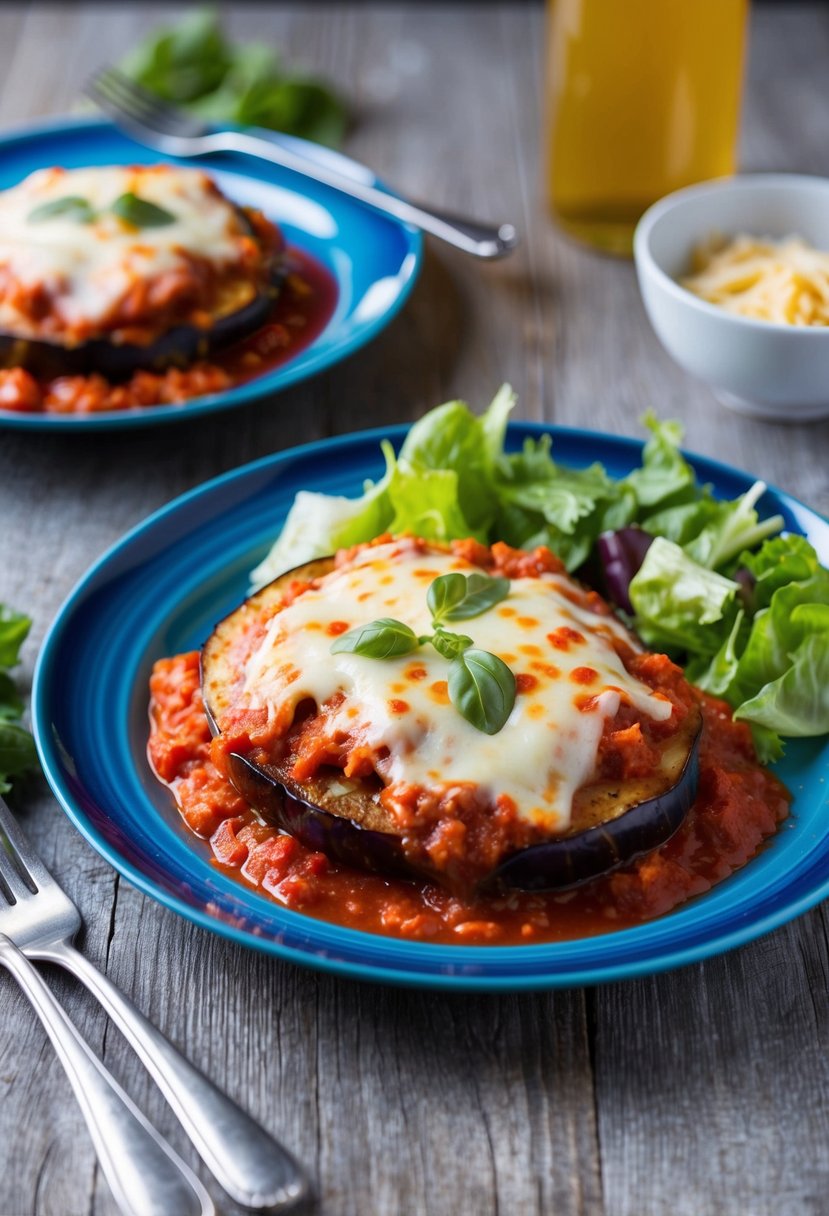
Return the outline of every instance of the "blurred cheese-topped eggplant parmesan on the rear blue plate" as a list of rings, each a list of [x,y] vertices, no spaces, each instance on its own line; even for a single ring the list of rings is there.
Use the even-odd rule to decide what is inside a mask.
[[[261,325],[282,237],[197,169],[41,169],[0,193],[0,356],[41,375],[185,364]]]

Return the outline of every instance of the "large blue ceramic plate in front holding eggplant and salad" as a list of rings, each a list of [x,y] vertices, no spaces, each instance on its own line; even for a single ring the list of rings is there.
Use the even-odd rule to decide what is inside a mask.
[[[515,424],[509,445],[543,428]],[[557,457],[600,460],[615,475],[638,465],[641,444],[552,428]],[[780,777],[794,811],[749,866],[671,916],[619,933],[541,946],[435,946],[373,936],[281,908],[210,865],[181,824],[146,760],[147,680],[154,659],[199,646],[246,595],[300,489],[356,495],[378,478],[374,430],[309,444],[227,473],[151,516],[89,572],[44,643],[33,692],[46,776],[72,822],[135,886],[233,941],[340,975],[423,987],[518,990],[625,979],[678,967],[750,941],[829,894],[825,739],[790,744]],[[405,428],[388,432],[400,441]],[[716,492],[734,497],[743,473],[693,460]],[[829,561],[829,523],[769,490]]]

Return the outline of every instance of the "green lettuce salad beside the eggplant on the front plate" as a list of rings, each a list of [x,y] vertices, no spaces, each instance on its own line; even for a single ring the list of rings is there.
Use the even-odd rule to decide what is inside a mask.
[[[681,427],[653,415],[642,465],[621,479],[557,465],[548,435],[506,452],[514,404],[504,385],[480,417],[463,401],[429,411],[397,456],[382,444],[385,474],[359,499],[301,490],[254,584],[383,531],[548,545],[750,724],[765,762],[782,736],[828,733],[829,570],[802,536],[778,535],[780,516],[760,519],[765,485],[715,499],[679,451]],[[639,542],[626,572],[600,561],[608,539]]]

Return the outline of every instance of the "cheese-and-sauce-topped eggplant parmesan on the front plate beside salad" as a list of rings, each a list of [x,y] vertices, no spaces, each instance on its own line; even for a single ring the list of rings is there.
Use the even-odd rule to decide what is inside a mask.
[[[491,606],[461,610],[461,641],[439,646],[428,592],[458,575]],[[406,653],[338,643],[390,618]],[[497,730],[458,709],[462,648],[512,674]],[[594,878],[661,845],[697,793],[694,691],[548,550],[383,537],[311,563],[216,627],[202,689],[212,761],[265,820],[456,893]]]

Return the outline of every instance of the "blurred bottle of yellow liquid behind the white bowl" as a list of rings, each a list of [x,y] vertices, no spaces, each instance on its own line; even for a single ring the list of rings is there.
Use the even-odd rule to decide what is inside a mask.
[[[548,185],[560,226],[627,254],[636,223],[734,173],[748,0],[548,0]]]

